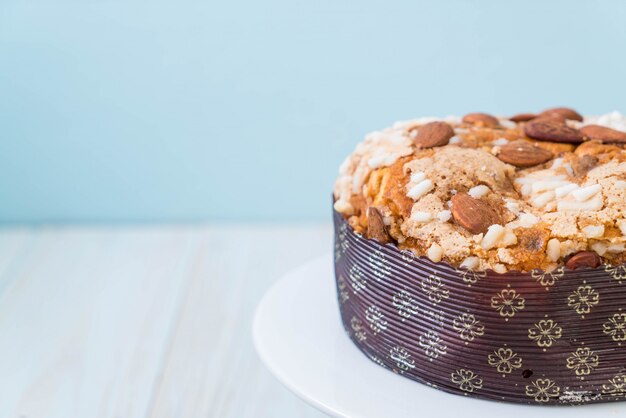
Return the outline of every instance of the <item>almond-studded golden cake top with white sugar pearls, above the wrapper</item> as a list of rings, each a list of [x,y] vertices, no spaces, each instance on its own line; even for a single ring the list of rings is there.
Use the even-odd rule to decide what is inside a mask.
[[[472,270],[626,260],[626,117],[569,108],[397,122],[340,168],[358,233]]]

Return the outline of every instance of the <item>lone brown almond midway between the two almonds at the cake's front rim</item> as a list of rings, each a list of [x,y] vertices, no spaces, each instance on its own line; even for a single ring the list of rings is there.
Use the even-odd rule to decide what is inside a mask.
[[[455,222],[472,234],[484,233],[491,225],[502,223],[500,215],[489,203],[467,193],[457,193],[451,201]]]

